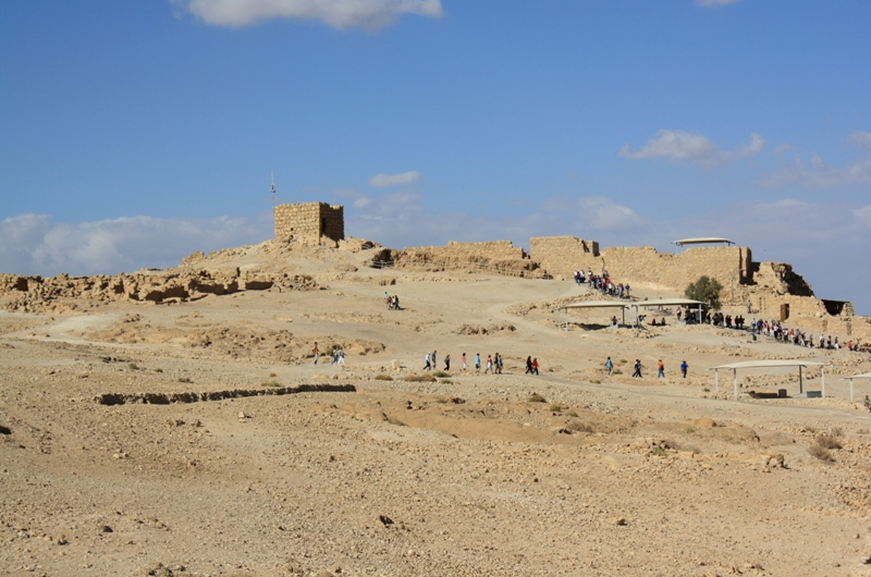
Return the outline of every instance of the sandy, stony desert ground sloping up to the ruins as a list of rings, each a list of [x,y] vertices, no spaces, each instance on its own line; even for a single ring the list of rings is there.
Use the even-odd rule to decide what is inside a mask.
[[[601,297],[367,258],[267,243],[191,266],[297,290],[0,312],[0,575],[871,575],[871,385],[842,380],[868,354],[673,310],[565,330]],[[706,370],[762,358],[825,361],[827,397],[759,398],[798,373],[756,369],[736,402]]]

